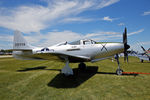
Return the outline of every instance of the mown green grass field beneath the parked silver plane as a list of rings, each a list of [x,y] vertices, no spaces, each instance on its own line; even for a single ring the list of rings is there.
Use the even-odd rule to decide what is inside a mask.
[[[124,71],[150,73],[149,62],[120,62]],[[150,100],[150,75],[117,76],[111,60],[86,64],[84,72],[70,64],[75,75],[64,77],[62,62],[0,58],[0,100]]]

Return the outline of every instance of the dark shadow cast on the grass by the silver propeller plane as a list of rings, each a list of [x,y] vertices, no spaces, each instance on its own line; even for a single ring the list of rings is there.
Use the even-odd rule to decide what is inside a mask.
[[[60,69],[46,69],[46,66],[38,66],[33,68],[25,68],[18,70],[18,72],[26,72],[32,70],[52,70],[52,71],[61,71]],[[94,76],[95,74],[107,74],[107,75],[116,75],[114,72],[98,72],[97,66],[87,66],[86,70],[81,71],[78,68],[73,69],[74,75],[65,76],[64,74],[59,73],[56,75],[50,82],[47,84],[49,87],[55,88],[76,88],[84,83],[86,80]],[[138,74],[123,74],[127,76],[137,76]]]

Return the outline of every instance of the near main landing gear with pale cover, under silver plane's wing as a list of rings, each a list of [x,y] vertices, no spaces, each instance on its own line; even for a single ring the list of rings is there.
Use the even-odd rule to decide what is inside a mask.
[[[68,60],[68,58],[65,58],[65,61],[66,61],[66,65],[61,70],[61,73],[65,74],[66,76],[73,75],[73,70],[69,67],[69,60]]]

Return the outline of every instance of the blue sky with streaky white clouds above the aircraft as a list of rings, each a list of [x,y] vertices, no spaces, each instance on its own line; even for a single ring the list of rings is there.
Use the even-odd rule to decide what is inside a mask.
[[[0,0],[0,49],[12,49],[13,32],[40,47],[90,38],[150,48],[150,0]]]

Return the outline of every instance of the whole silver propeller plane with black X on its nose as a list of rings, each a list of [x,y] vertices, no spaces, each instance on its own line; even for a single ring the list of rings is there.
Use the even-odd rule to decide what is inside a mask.
[[[75,42],[63,42],[50,47],[33,47],[27,43],[23,35],[19,31],[14,32],[13,56],[24,60],[54,60],[65,61],[66,65],[62,68],[61,73],[65,75],[73,75],[73,70],[69,66],[70,63],[80,63],[79,69],[85,69],[84,62],[96,62],[110,58],[116,55],[118,68],[116,73],[121,75],[123,70],[119,65],[119,53],[127,58],[127,30],[123,33],[123,42],[95,42],[91,39],[83,39]]]

